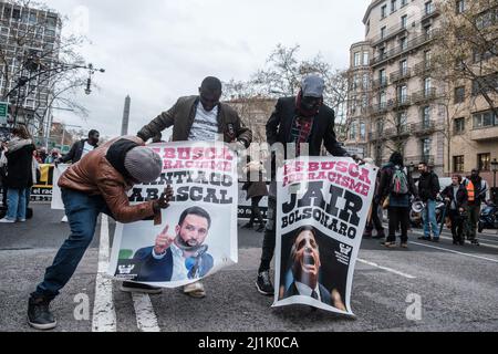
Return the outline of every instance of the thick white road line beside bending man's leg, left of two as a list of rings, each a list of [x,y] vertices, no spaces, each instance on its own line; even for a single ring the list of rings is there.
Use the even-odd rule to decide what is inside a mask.
[[[108,219],[102,215],[98,246],[98,272],[95,281],[92,332],[116,332],[116,311],[113,302],[113,281],[106,278],[108,268]]]

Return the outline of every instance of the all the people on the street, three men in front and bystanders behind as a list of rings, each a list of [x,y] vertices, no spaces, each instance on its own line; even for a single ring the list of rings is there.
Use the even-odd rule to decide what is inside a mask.
[[[352,157],[364,164],[357,156],[351,156],[338,142],[334,133],[334,111],[323,102],[324,81],[317,75],[307,76],[300,92],[293,97],[278,100],[276,108],[267,123],[267,142],[273,144],[295,144],[297,155],[301,144],[308,144],[310,156],[320,156],[322,146],[328,153],[338,157]],[[160,222],[163,209],[167,209],[173,197],[168,187],[158,199],[131,205],[126,195],[134,185],[152,183],[162,173],[162,158],[145,145],[162,142],[160,133],[173,127],[173,142],[215,142],[225,143],[246,149],[252,142],[252,133],[247,128],[238,113],[221,103],[222,85],[216,77],[206,77],[198,95],[180,97],[169,110],[144,126],[136,136],[117,137],[98,146],[100,135],[91,131],[86,139],[76,142],[69,154],[61,156],[54,149],[48,154],[43,148],[37,149],[28,131],[20,126],[12,132],[12,139],[2,144],[0,166],[7,167],[3,186],[7,187],[8,211],[0,222],[24,222],[30,187],[37,180],[37,166],[41,163],[71,164],[61,176],[62,200],[71,229],[70,237],[55,256],[51,267],[46,268],[43,280],[29,299],[29,324],[39,330],[50,330],[56,321],[50,311],[50,303],[72,278],[95,232],[96,220],[101,212],[112,216],[120,222],[134,222],[153,218]],[[274,288],[270,279],[270,264],[276,249],[277,215],[277,168],[274,156],[271,164],[271,184],[269,189],[264,181],[249,181],[243,189],[252,200],[252,215],[245,228],[252,229],[255,221],[258,231],[264,232],[261,260],[256,274],[257,290],[263,295],[273,295]],[[261,160],[253,160],[246,166],[245,173],[255,173],[260,177],[267,173]],[[440,190],[437,176],[426,163],[418,166],[421,178],[418,186],[414,183],[412,171],[404,164],[401,153],[394,153],[390,162],[380,169],[375,197],[365,229],[364,237],[385,239],[387,248],[396,247],[396,233],[401,230],[401,247],[408,247],[409,211],[413,200],[424,205],[424,240],[437,242],[440,228],[436,221],[435,205],[438,198],[447,204],[447,216],[452,221],[452,232],[456,244],[464,243],[464,232],[471,242],[476,240],[476,223],[480,204],[485,200],[487,185],[477,170],[463,178],[453,176],[453,184]],[[259,204],[268,196],[268,215],[264,222]],[[388,232],[385,235],[380,209],[387,209]],[[162,250],[159,250],[162,251]],[[176,267],[176,266],[175,266]],[[125,292],[159,293],[162,289],[135,282],[123,282]],[[205,287],[200,281],[183,288],[191,298],[204,298]]]

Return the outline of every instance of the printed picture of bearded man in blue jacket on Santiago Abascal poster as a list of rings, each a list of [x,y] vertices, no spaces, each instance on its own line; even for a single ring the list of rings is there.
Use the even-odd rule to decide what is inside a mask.
[[[214,267],[214,258],[204,242],[211,226],[209,214],[199,207],[186,209],[170,235],[169,225],[156,237],[155,244],[138,250],[134,259],[142,267],[136,281],[169,282],[200,279]]]

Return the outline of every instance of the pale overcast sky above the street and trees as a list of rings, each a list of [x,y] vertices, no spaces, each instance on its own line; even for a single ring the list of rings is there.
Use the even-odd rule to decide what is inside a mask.
[[[85,34],[87,62],[104,67],[100,86],[77,97],[82,121],[55,111],[55,121],[121,133],[124,97],[132,96],[129,133],[136,133],[201,80],[248,80],[278,43],[301,45],[300,58],[319,53],[347,66],[349,49],[364,37],[370,0],[48,0],[66,15],[66,31]],[[82,90],[83,92],[83,90]]]

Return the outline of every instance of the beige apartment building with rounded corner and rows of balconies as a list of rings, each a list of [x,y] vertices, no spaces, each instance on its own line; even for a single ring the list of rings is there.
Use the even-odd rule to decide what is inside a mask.
[[[430,77],[439,17],[435,0],[374,0],[365,40],[351,46],[346,145],[364,146],[377,165],[401,149],[407,164],[424,160],[443,173],[445,113]]]

